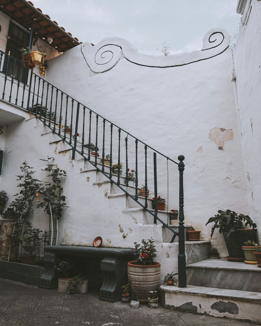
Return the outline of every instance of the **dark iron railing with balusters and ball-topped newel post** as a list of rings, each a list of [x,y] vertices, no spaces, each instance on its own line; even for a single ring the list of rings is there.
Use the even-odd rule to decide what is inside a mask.
[[[100,173],[110,179],[113,184],[117,185],[146,210],[148,214],[152,215],[154,224],[159,221],[171,230],[173,232],[171,243],[178,235],[179,286],[186,287],[185,230],[183,222],[184,156],[178,156],[179,163],[177,163],[168,156],[161,154],[137,137],[65,94],[51,83],[46,82],[33,70],[30,73],[29,85],[26,85],[20,78],[21,71],[24,69],[22,63],[2,51],[0,52],[0,68],[1,77],[3,77],[0,78],[0,86],[3,89],[2,100],[33,113],[45,126],[49,127],[53,133],[68,144],[68,149],[72,149],[72,159],[75,159],[77,153],[84,157]],[[98,145],[100,146],[100,144],[102,144],[102,157],[98,162]],[[110,157],[108,166],[104,164],[106,153],[109,153],[107,155]],[[113,164],[113,158],[116,158],[115,164]],[[165,222],[158,216],[159,183],[157,182],[157,162],[162,166],[164,160],[167,163],[178,165],[179,170],[178,232],[168,225],[168,220]],[[123,166],[125,176],[121,175]],[[138,196],[140,180],[144,184],[145,197]],[[153,204],[151,198],[148,197],[149,187],[154,187],[154,210],[149,208],[149,205]],[[166,215],[168,216],[168,214]]]

